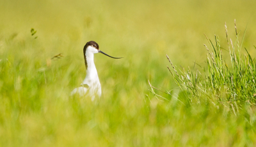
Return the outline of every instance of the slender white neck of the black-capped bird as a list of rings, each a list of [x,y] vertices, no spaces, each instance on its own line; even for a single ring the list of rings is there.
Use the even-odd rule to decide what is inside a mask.
[[[84,78],[83,84],[90,84],[91,82],[94,83],[95,81],[99,81],[97,69],[94,64],[93,60],[93,53],[86,52],[84,56],[84,60],[86,61],[86,77]]]

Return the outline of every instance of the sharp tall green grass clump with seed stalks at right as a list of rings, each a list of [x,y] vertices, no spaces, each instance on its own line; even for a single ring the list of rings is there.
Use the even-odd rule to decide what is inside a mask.
[[[234,113],[238,111],[244,104],[250,106],[255,105],[256,99],[256,60],[252,59],[250,53],[245,49],[246,54],[241,52],[243,39],[239,44],[239,33],[237,33],[236,21],[236,42],[228,38],[227,25],[225,25],[227,35],[228,52],[231,62],[228,63],[223,59],[222,50],[225,50],[220,45],[218,36],[215,36],[214,41],[207,38],[212,52],[207,49],[207,68],[204,68],[204,74],[200,71],[193,71],[190,68],[188,71],[177,72],[171,60],[167,55],[167,59],[172,64],[175,76],[170,68],[175,83],[190,102],[204,102],[204,98],[215,104],[223,104],[230,106]],[[244,31],[245,34],[245,31]],[[244,36],[243,36],[244,38]],[[230,66],[228,66],[230,65]]]

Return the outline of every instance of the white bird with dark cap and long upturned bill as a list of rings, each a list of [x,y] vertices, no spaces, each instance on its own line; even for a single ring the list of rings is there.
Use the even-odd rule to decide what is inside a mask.
[[[79,95],[80,97],[88,96],[94,101],[95,97],[101,97],[101,86],[100,80],[97,73],[97,69],[94,64],[94,53],[102,53],[108,57],[110,55],[99,50],[99,45],[95,41],[88,41],[84,45],[83,54],[84,54],[84,64],[86,67],[86,76],[81,83],[80,87],[72,90],[70,95]],[[111,57],[113,59],[121,59],[116,57]]]

